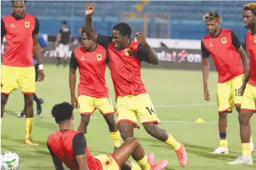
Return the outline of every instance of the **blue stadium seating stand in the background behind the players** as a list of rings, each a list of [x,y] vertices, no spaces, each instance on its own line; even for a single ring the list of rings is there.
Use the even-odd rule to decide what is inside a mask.
[[[244,40],[242,23],[242,7],[249,1],[90,1],[96,4],[94,25],[99,33],[109,35],[112,26],[120,22],[122,12],[165,13],[170,15],[169,38],[201,39],[207,31],[202,17],[206,12],[216,11],[223,17],[223,28],[231,28]],[[41,23],[41,32],[57,35],[61,20],[67,20],[67,25],[78,35],[78,27],[84,24],[84,7],[87,1],[28,1],[26,10],[35,14]],[[232,7],[232,8],[228,8]],[[1,1],[1,15],[11,12],[11,2]],[[144,20],[133,20],[132,27],[141,30]],[[148,25],[152,21],[148,21]],[[137,27],[137,28],[136,28]],[[160,24],[159,27],[163,27]],[[189,30],[187,28],[189,27]],[[159,29],[159,28],[154,28]],[[141,30],[142,31],[142,30]],[[150,38],[164,38],[162,30],[151,31]],[[168,31],[168,30],[166,30]]]

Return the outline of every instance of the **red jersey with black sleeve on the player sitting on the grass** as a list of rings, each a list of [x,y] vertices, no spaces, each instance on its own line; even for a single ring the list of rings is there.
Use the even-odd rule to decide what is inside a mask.
[[[79,169],[75,156],[83,154],[87,156],[89,169],[102,169],[102,163],[91,155],[86,145],[86,138],[81,132],[75,130],[53,132],[49,136],[47,146],[51,156],[59,158],[69,169]]]

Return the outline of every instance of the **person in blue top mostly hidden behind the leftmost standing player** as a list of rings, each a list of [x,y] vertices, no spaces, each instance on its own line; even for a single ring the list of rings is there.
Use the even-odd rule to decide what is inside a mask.
[[[44,40],[44,37],[41,33],[38,33],[38,43],[39,43],[39,46],[41,47],[41,54],[44,54],[46,51],[49,50],[48,44]],[[39,69],[38,69],[38,63],[36,61],[35,56],[33,56],[33,61],[34,61],[34,67],[35,67],[35,72],[36,72],[36,82],[37,82]],[[36,110],[37,110],[37,114],[39,115],[42,113],[42,105],[44,103],[44,100],[43,100],[43,98],[38,98],[36,93],[33,95],[33,100],[36,101]],[[17,117],[25,117],[25,109],[26,109],[26,106],[24,105],[23,111],[21,111],[21,113],[18,114]]]

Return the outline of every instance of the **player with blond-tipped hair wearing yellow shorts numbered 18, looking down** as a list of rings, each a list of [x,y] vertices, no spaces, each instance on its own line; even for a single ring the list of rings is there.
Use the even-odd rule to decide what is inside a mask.
[[[247,56],[244,53],[239,39],[232,30],[221,29],[221,17],[217,12],[205,14],[207,30],[209,32],[202,38],[201,49],[203,57],[203,82],[205,100],[210,101],[207,87],[209,76],[209,56],[212,56],[218,72],[218,113],[220,146],[212,154],[228,153],[226,140],[227,114],[232,112],[234,106],[239,112],[241,105],[241,85],[244,72],[247,72]],[[242,62],[242,64],[241,64]],[[255,151],[251,142],[251,150]]]

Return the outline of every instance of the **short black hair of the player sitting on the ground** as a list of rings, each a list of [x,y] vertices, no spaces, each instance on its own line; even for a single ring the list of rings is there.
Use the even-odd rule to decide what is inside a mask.
[[[55,118],[57,124],[70,120],[73,115],[73,106],[67,102],[56,104],[51,109],[51,115]]]

